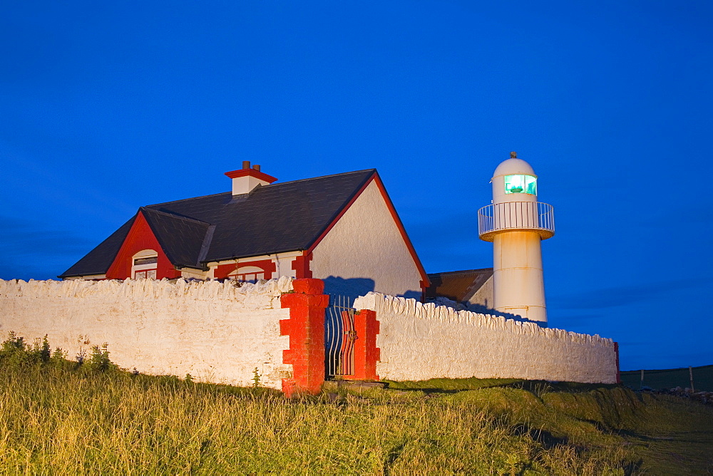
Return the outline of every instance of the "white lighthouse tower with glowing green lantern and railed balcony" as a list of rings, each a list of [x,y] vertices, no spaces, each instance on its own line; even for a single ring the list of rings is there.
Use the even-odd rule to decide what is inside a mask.
[[[540,242],[555,234],[553,207],[538,202],[537,175],[515,152],[491,181],[493,203],[478,210],[478,232],[493,242],[493,307],[546,325]]]

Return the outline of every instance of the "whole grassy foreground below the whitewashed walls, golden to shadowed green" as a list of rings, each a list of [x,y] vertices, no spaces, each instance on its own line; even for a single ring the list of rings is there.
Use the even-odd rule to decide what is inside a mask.
[[[617,386],[463,379],[285,400],[20,353],[0,351],[3,473],[713,470],[711,408]],[[87,362],[106,363],[97,353]]]

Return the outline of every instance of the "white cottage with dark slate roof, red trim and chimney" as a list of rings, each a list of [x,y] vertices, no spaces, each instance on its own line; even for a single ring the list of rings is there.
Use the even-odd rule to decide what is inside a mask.
[[[375,169],[292,182],[243,162],[232,190],[140,207],[61,279],[324,279],[327,292],[429,286]]]

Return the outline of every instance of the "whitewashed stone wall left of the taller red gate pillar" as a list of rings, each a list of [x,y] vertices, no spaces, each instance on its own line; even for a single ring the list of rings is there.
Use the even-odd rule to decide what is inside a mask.
[[[153,375],[186,373],[199,381],[281,388],[292,376],[282,363],[289,336],[279,335],[282,277],[237,288],[218,281],[3,281],[0,341],[9,331],[26,341],[45,334],[74,358],[108,343],[118,366]]]

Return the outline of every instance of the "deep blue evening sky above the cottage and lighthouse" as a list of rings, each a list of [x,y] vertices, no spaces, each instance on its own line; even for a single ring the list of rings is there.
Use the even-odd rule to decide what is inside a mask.
[[[492,266],[477,209],[540,176],[550,326],[622,369],[713,363],[713,4],[7,2],[0,278],[141,205],[376,167],[429,272]]]

